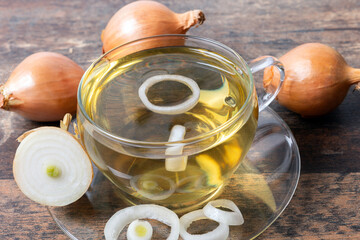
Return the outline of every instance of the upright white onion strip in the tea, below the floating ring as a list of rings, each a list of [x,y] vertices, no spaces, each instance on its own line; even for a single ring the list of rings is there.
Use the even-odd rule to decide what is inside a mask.
[[[181,125],[172,127],[169,136],[169,142],[181,141],[184,139],[186,128]],[[183,153],[184,144],[169,144],[173,145],[165,150],[165,155],[181,155]],[[187,156],[181,157],[167,157],[165,159],[165,169],[170,172],[185,171],[187,165]]]

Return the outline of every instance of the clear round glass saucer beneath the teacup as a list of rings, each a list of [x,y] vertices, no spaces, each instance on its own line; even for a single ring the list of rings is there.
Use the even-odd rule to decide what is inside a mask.
[[[71,239],[104,239],[107,220],[119,209],[129,206],[121,194],[96,168],[87,193],[65,207],[49,207],[57,225]],[[245,223],[231,226],[229,239],[253,239],[268,228],[289,204],[300,176],[300,155],[286,123],[269,107],[259,116],[254,143],[230,183],[218,198],[234,201]],[[169,228],[150,221],[152,239],[166,239]],[[216,224],[201,220],[189,231],[202,233]],[[119,239],[126,239],[122,232]],[[180,238],[181,239],[181,238]]]

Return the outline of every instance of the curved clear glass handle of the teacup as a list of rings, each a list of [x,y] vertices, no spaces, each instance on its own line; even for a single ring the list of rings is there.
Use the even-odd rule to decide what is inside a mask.
[[[249,63],[250,71],[253,74],[270,66],[273,66],[278,70],[280,78],[273,78],[267,87],[262,84],[263,88],[265,88],[265,94],[263,94],[263,96],[258,96],[259,112],[264,110],[279,93],[285,79],[285,70],[283,64],[272,56],[262,56]]]

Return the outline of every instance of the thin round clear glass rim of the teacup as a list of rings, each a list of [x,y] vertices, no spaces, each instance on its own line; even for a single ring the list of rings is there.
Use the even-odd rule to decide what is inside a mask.
[[[226,50],[226,52],[232,54],[237,60],[240,60],[240,62],[242,62],[245,65],[246,70],[247,70],[247,75],[249,76],[249,80],[250,80],[250,90],[249,90],[248,95],[247,95],[247,97],[246,97],[246,99],[244,101],[244,104],[241,106],[241,108],[235,113],[234,116],[232,116],[230,119],[228,119],[226,122],[224,122],[220,126],[214,128],[214,129],[212,129],[212,130],[210,130],[210,131],[208,131],[206,133],[201,133],[201,134],[196,135],[196,136],[191,137],[191,138],[185,138],[183,140],[173,141],[173,142],[169,142],[169,141],[166,141],[166,142],[149,142],[149,141],[140,141],[140,140],[124,138],[124,137],[112,134],[111,132],[109,132],[109,131],[103,129],[102,127],[100,127],[99,125],[97,125],[89,117],[89,115],[87,114],[87,112],[86,112],[86,110],[84,108],[83,102],[81,100],[81,88],[82,88],[83,82],[86,80],[86,76],[87,76],[88,72],[91,71],[91,69],[93,69],[94,66],[99,61],[101,61],[101,59],[103,59],[104,57],[106,57],[110,53],[116,51],[117,49],[124,48],[126,46],[131,45],[131,44],[141,42],[141,41],[145,41],[145,40],[149,40],[149,39],[169,38],[169,37],[192,39],[192,40],[197,40],[197,41],[210,43],[210,44],[213,44],[213,45],[215,45],[217,47],[220,47],[220,48]],[[85,121],[88,121],[91,124],[92,128],[94,128],[101,135],[103,135],[103,136],[105,136],[107,138],[110,138],[112,140],[116,140],[118,142],[121,142],[122,144],[125,144],[125,145],[133,145],[133,146],[141,146],[141,147],[148,146],[148,147],[156,148],[156,147],[164,147],[164,146],[168,147],[166,145],[168,145],[169,143],[190,145],[190,144],[202,141],[204,139],[208,139],[209,137],[212,137],[212,136],[218,134],[219,132],[227,129],[228,127],[232,126],[233,123],[235,121],[237,121],[244,114],[244,112],[246,112],[247,108],[250,105],[250,100],[251,100],[253,94],[254,94],[254,79],[253,79],[253,75],[251,73],[251,70],[250,70],[247,62],[236,51],[234,51],[232,48],[226,46],[225,44],[223,44],[221,42],[218,42],[216,40],[206,38],[206,37],[199,37],[199,36],[188,35],[188,34],[162,34],[162,35],[155,35],[155,36],[140,38],[140,39],[136,39],[134,41],[127,42],[125,44],[121,44],[121,45],[119,45],[119,46],[117,46],[117,47],[103,53],[100,57],[98,57],[95,61],[93,61],[93,63],[91,63],[91,65],[87,68],[87,70],[85,71],[84,75],[81,77],[81,80],[79,82],[78,91],[77,91],[77,105],[78,105],[78,109],[80,109],[80,112],[85,117]]]

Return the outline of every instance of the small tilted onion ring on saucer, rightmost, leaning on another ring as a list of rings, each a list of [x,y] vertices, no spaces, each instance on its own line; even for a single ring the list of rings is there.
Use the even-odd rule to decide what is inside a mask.
[[[223,211],[217,207],[225,207],[232,210],[232,212]],[[208,202],[203,208],[203,212],[206,217],[226,225],[241,225],[244,223],[244,218],[239,208],[233,201],[228,199],[217,199]]]

